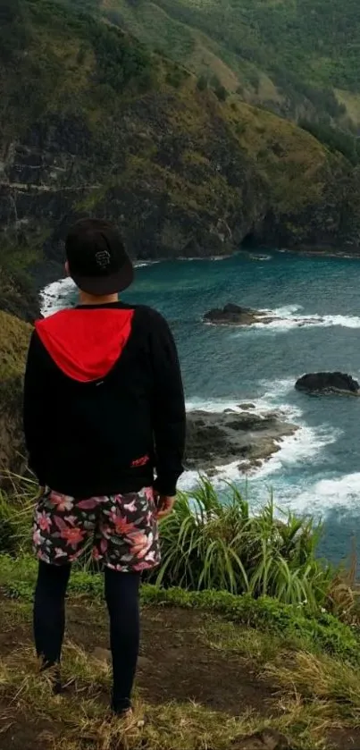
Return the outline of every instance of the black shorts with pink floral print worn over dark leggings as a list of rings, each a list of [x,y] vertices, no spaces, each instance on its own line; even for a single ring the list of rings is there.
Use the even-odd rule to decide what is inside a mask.
[[[47,489],[34,518],[39,560],[64,565],[92,550],[94,560],[121,572],[150,570],[160,562],[154,491],[77,500]]]

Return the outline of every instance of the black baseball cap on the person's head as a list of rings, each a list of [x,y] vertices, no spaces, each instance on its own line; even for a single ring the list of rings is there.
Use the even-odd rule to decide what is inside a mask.
[[[134,279],[134,266],[112,222],[80,219],[71,227],[65,249],[71,278],[81,291],[116,294]]]

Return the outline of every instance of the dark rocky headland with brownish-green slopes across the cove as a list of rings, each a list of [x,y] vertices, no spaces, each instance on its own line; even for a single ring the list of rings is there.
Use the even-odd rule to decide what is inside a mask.
[[[246,239],[357,251],[356,159],[200,85],[113,25],[111,4],[0,0],[0,308],[37,314],[29,270],[38,284],[59,273],[83,215],[119,223],[133,257]],[[146,7],[128,2],[127,18],[150,32]]]

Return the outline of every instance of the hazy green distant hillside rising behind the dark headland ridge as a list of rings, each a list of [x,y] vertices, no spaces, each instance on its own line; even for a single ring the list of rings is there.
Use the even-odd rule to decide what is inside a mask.
[[[102,5],[151,46],[197,72],[209,68],[230,91],[244,88],[254,103],[279,108],[285,94],[292,114],[304,115],[310,101],[324,114],[326,105],[320,97],[309,99],[304,84],[358,95],[355,0],[102,0]],[[348,114],[354,118],[354,107]]]

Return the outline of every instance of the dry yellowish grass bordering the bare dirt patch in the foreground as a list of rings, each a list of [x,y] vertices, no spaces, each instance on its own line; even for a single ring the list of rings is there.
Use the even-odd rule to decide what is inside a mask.
[[[14,627],[29,620],[29,607],[4,602],[5,631],[12,611]],[[190,637],[203,651],[216,649],[229,661],[240,655],[248,673],[269,687],[271,712],[265,711],[266,701],[234,717],[190,701],[150,704],[138,693],[133,715],[121,721],[108,707],[111,674],[105,660],[67,643],[67,687],[54,696],[50,678],[39,674],[32,646],[20,637],[21,645],[0,660],[0,750],[17,731],[19,737],[32,731],[38,750],[236,750],[246,746],[245,737],[266,730],[289,737],[292,750],[330,750],[333,732],[351,734],[359,726],[360,668],[215,617],[199,622]]]

